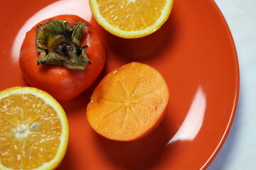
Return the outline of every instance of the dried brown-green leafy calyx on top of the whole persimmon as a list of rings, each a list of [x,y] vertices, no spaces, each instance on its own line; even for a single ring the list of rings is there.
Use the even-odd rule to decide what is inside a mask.
[[[85,70],[90,60],[85,54],[88,46],[80,47],[82,29],[88,26],[78,22],[73,28],[68,22],[52,20],[36,28],[36,46],[40,52],[39,64],[63,65],[68,69]]]

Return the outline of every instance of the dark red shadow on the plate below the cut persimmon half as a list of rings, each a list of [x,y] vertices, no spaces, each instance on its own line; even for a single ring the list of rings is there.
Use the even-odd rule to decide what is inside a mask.
[[[134,142],[108,140],[95,133],[95,141],[102,154],[117,166],[117,169],[151,169],[164,157],[169,141],[169,120],[164,120],[149,135]],[[172,134],[174,135],[174,134]]]

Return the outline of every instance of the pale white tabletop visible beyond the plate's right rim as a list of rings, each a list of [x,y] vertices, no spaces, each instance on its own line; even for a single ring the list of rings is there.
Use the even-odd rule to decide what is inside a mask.
[[[240,96],[232,128],[207,170],[256,169],[256,1],[215,0],[233,35]]]

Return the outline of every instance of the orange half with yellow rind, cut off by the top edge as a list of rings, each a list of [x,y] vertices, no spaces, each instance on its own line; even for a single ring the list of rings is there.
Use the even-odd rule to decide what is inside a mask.
[[[169,18],[173,0],[90,0],[97,23],[122,38],[141,38]]]

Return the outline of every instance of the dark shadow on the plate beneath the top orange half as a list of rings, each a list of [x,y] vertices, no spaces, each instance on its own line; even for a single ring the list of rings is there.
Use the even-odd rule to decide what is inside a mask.
[[[119,38],[104,30],[97,24],[95,18],[92,17],[90,23],[98,30],[102,36],[105,47],[119,60],[150,60],[159,56],[170,43],[175,42],[177,25],[174,24],[173,15],[164,23],[155,33],[147,35],[143,38]]]

